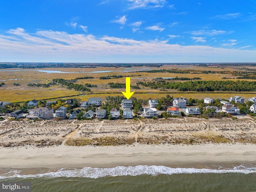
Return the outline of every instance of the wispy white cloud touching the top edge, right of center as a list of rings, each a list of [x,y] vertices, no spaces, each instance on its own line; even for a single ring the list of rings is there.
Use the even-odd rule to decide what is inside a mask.
[[[130,2],[130,9],[136,8],[158,8],[163,7],[166,0],[128,0]]]

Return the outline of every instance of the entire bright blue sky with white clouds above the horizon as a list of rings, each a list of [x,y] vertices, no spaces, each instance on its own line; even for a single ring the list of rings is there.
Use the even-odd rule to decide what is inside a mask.
[[[256,62],[255,0],[2,0],[0,62]]]

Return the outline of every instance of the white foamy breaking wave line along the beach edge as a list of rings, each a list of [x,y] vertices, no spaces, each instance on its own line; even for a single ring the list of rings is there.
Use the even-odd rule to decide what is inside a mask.
[[[232,169],[197,169],[197,168],[170,168],[166,166],[117,166],[114,168],[90,168],[82,169],[75,168],[61,168],[56,172],[48,172],[44,174],[22,174],[22,170],[11,170],[10,172],[0,175],[0,179],[5,178],[56,178],[56,177],[86,177],[86,178],[100,178],[106,176],[138,176],[138,175],[172,175],[172,174],[221,174],[221,173],[242,173],[252,174],[256,173],[256,167],[245,167],[243,165],[235,166]]]

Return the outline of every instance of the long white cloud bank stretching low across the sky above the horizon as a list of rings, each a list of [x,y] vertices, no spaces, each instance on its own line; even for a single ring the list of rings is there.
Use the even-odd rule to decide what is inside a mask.
[[[194,38],[204,42],[204,38]],[[232,41],[226,41],[232,44]],[[236,42],[233,42],[236,43]],[[0,33],[2,62],[253,62],[255,50],[181,46],[168,40],[133,40],[22,28]]]

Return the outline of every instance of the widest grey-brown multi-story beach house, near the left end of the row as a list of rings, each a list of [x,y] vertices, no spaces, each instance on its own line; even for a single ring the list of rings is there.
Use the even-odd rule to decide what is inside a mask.
[[[53,109],[48,107],[39,107],[35,109],[28,110],[28,115],[26,118],[42,118],[50,120],[53,118]]]

